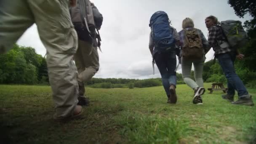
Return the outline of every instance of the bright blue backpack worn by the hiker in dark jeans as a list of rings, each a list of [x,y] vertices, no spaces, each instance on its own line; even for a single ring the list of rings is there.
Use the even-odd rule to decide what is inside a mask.
[[[175,38],[172,35],[173,28],[170,26],[167,13],[164,11],[155,12],[150,18],[149,27],[152,29],[155,48],[160,52],[171,51],[175,48]]]

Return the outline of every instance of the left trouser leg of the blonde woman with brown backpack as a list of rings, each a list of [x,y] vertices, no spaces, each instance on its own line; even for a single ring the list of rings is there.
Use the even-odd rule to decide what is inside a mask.
[[[191,68],[192,68],[192,61],[181,58],[181,70],[182,70],[183,80],[190,88],[195,90],[195,88],[198,88],[199,85],[197,85],[197,83],[190,78]]]

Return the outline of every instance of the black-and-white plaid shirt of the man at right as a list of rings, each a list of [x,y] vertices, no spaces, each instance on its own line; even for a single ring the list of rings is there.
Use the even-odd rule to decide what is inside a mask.
[[[232,51],[230,47],[221,48],[219,46],[222,43],[227,43],[227,40],[224,37],[220,26],[214,25],[210,27],[208,30],[209,30],[208,43],[211,45],[211,47],[213,47],[213,50],[215,51],[215,55],[220,53],[228,53]]]

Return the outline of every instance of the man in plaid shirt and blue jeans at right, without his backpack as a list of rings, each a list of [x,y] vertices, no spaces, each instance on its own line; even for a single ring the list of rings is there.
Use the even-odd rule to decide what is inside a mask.
[[[243,59],[243,54],[239,53],[234,47],[229,46],[227,36],[224,35],[219,24],[215,16],[208,16],[205,19],[205,25],[209,31],[208,43],[213,47],[214,55],[218,59],[228,81],[227,94],[222,95],[222,98],[231,101],[232,104],[253,106],[251,95],[249,95],[242,80],[235,73],[235,59],[236,57]],[[237,101],[234,101],[235,90],[239,98]]]

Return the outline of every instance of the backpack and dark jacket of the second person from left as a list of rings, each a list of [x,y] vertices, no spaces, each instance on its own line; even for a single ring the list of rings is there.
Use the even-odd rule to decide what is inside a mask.
[[[70,8],[70,15],[78,38],[100,48],[101,38],[98,30],[101,27],[103,17],[90,0],[77,0],[77,5]],[[97,29],[98,34],[95,29]],[[98,39],[98,42],[95,38]]]

